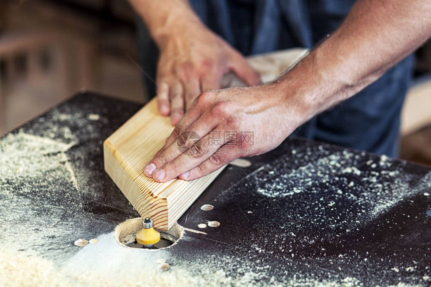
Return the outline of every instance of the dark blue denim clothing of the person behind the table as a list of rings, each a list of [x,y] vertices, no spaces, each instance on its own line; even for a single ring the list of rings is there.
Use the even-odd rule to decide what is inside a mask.
[[[335,31],[354,0],[189,0],[203,23],[243,55],[313,48]],[[155,75],[157,48],[138,25],[142,65]],[[314,117],[294,134],[396,157],[400,113],[412,75],[409,56],[378,81]],[[155,93],[147,81],[150,95]]]

